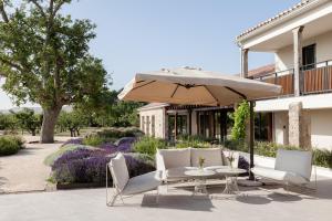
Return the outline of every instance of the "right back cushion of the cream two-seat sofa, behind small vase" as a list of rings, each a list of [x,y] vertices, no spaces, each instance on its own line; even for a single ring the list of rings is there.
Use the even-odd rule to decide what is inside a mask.
[[[221,148],[191,148],[193,167],[199,167],[199,157],[205,158],[204,167],[222,166]]]

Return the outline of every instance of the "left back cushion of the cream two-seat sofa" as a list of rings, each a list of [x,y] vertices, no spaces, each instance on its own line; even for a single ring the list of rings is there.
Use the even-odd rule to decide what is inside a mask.
[[[158,154],[163,156],[165,169],[190,167],[190,148],[159,149]]]

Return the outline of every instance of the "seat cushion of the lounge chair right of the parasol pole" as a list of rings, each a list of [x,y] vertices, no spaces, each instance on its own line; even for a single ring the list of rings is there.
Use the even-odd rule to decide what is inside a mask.
[[[276,170],[272,168],[264,168],[264,167],[255,167],[251,169],[251,171],[256,176],[277,180],[277,181],[286,181],[294,185],[304,185],[309,182],[304,177],[295,172],[281,171],[281,170]]]

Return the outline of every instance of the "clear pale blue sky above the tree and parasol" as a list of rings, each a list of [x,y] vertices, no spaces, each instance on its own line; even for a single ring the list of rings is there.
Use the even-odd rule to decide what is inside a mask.
[[[103,60],[113,78],[112,88],[120,90],[135,73],[163,67],[239,73],[240,51],[235,38],[299,1],[73,0],[61,12],[97,25],[91,53]],[[249,53],[249,69],[270,63],[273,54]],[[0,90],[0,109],[13,106]]]

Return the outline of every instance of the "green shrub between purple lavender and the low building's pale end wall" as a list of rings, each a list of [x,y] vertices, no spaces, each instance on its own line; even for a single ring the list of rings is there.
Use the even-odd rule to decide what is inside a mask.
[[[137,143],[134,144],[134,151],[146,154],[152,157],[155,156],[157,149],[167,148],[167,143],[164,139],[154,137],[142,137]]]

